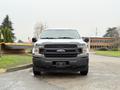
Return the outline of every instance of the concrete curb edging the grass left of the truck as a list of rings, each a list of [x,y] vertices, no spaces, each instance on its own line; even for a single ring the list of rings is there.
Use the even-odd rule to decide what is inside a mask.
[[[6,69],[6,72],[14,72],[14,71],[18,71],[18,70],[23,70],[23,69],[27,69],[32,67],[33,64],[26,64],[26,65],[21,65],[21,66],[17,66],[17,67],[12,67],[9,69]]]

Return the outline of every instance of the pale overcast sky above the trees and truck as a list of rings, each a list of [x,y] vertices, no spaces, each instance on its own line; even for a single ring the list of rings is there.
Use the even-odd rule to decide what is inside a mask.
[[[33,36],[35,24],[49,28],[76,28],[82,36],[102,36],[108,27],[120,26],[120,0],[0,0],[0,23],[13,22],[17,39]]]

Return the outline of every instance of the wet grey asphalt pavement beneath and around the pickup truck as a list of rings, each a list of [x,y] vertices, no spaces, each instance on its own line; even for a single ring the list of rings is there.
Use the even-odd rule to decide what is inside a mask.
[[[0,74],[0,90],[120,90],[120,58],[90,54],[89,73],[44,73],[32,69]]]

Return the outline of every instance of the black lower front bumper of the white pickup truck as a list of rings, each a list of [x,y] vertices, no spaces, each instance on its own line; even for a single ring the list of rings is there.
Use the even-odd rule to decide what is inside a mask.
[[[88,69],[88,56],[76,58],[45,58],[33,56],[35,71],[84,71]]]

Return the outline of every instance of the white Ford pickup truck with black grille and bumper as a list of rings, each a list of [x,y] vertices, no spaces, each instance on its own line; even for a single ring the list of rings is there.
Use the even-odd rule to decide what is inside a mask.
[[[32,38],[34,47],[33,74],[41,72],[80,72],[87,75],[89,68],[88,39],[82,39],[77,30],[48,29],[40,38]]]

